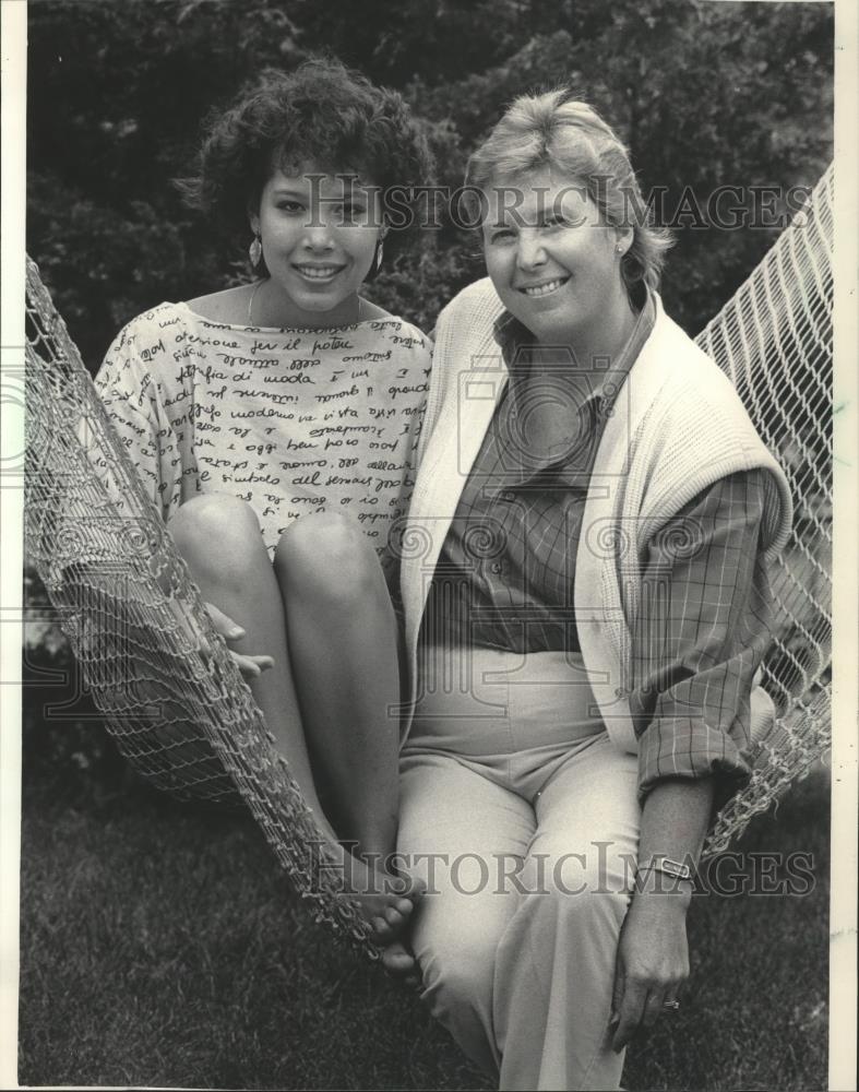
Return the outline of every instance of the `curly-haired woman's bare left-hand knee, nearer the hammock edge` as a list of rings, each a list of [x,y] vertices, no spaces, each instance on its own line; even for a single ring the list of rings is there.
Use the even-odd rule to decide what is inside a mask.
[[[251,551],[264,549],[260,524],[250,505],[228,494],[201,494],[187,500],[171,517],[168,529],[179,553],[199,571],[220,573],[240,569]]]

